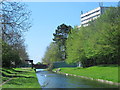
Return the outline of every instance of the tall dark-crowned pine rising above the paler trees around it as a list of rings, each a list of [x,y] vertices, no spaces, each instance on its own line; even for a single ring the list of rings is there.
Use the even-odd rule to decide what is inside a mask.
[[[58,45],[59,45],[59,51],[61,52],[61,59],[66,59],[66,40],[68,38],[68,33],[70,33],[72,27],[67,26],[65,24],[61,24],[57,27],[55,30],[54,39]]]

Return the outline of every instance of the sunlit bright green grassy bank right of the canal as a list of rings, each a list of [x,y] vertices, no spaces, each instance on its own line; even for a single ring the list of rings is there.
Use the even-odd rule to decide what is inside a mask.
[[[53,69],[53,71],[55,70]],[[117,65],[101,65],[89,68],[61,68],[60,72],[120,83]]]

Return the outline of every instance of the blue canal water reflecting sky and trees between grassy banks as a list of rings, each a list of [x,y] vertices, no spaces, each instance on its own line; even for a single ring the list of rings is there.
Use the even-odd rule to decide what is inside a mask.
[[[74,76],[56,74],[42,69],[37,69],[36,75],[42,88],[116,88],[114,85],[103,84],[98,81]]]

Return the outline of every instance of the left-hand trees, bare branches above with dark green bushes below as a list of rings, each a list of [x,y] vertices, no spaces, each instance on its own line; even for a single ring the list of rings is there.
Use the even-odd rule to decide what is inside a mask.
[[[31,12],[20,2],[2,0],[0,6],[2,66],[9,68],[27,64],[24,61],[29,58],[24,44],[24,32],[31,27]]]

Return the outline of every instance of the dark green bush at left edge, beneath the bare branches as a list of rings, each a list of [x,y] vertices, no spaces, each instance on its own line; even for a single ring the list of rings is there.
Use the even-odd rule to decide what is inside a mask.
[[[3,67],[13,67],[21,63],[18,52],[4,42],[2,43],[2,51]]]

